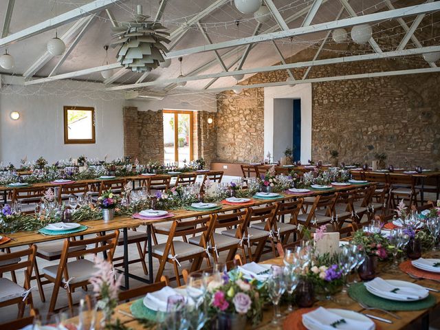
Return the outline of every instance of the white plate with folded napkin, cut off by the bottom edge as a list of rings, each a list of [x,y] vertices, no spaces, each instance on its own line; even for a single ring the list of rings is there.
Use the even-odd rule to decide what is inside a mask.
[[[347,318],[347,316],[339,316],[338,314],[325,309],[324,307],[318,307],[314,311],[303,314],[303,323],[313,325],[314,329],[320,330],[373,330],[375,324],[371,320],[354,320],[353,318]]]

